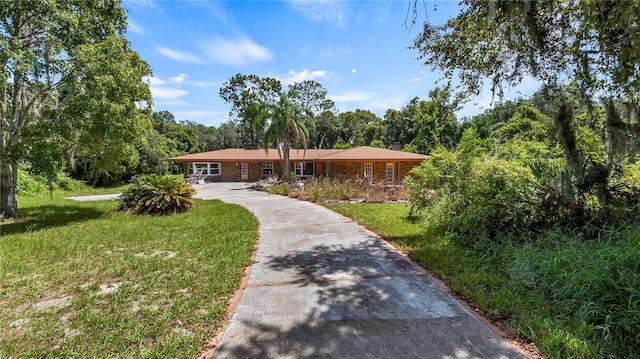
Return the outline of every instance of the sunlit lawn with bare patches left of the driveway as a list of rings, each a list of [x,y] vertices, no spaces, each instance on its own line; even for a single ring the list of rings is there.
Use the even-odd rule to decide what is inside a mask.
[[[183,214],[19,198],[0,227],[0,358],[194,358],[226,318],[257,238],[247,210]]]

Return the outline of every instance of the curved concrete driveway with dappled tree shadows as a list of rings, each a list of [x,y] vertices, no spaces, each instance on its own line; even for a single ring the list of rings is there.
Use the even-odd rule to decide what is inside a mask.
[[[215,358],[519,358],[421,268],[328,209],[197,185],[260,221],[247,286]]]

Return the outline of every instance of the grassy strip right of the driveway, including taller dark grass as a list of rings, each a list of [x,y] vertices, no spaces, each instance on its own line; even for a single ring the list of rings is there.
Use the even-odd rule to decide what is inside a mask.
[[[552,230],[461,247],[402,204],[325,204],[392,242],[514,337],[550,358],[640,357],[640,228],[600,240]]]

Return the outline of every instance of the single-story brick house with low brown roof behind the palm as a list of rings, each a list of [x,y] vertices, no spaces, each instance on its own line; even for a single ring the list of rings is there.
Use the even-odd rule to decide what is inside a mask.
[[[292,149],[290,168],[300,178],[327,176],[391,184],[400,183],[427,157],[368,146],[344,150]],[[186,177],[202,173],[208,182],[252,182],[282,176],[282,159],[277,149],[228,148],[172,157],[169,161],[182,162]]]

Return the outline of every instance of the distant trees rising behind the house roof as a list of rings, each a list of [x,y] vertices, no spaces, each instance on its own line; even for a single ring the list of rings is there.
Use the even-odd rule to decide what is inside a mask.
[[[237,74],[220,89],[220,96],[231,105],[229,113],[243,144],[257,144],[269,125],[270,103],[280,98],[282,85],[277,79]],[[413,98],[399,110],[389,109],[384,118],[371,111],[356,109],[339,113],[322,84],[303,81],[290,86],[301,125],[307,131],[300,147],[345,148],[376,145],[391,148],[399,144],[406,150],[429,153],[433,148],[452,148],[459,134],[455,107],[448,89],[434,89],[428,100]]]

